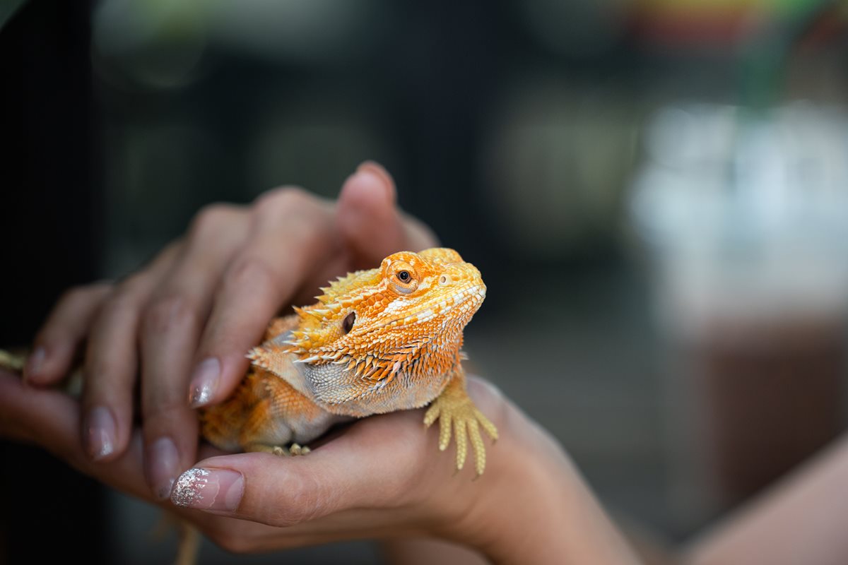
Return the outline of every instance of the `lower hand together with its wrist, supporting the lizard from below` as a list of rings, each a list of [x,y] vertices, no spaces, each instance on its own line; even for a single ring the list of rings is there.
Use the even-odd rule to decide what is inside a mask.
[[[168,507],[229,551],[416,536],[455,540],[498,563],[634,562],[555,441],[492,386],[471,378],[468,387],[501,432],[476,480],[471,469],[454,474],[421,410],[362,419],[305,457],[204,448],[195,469],[209,474],[189,471],[174,490],[176,507],[145,483],[139,430],[120,455],[93,462],[75,433],[79,404],[3,370],[0,430]]]

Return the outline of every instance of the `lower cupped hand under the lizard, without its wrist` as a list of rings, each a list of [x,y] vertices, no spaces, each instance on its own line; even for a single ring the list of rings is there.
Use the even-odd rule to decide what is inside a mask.
[[[175,485],[176,507],[148,489],[139,429],[120,454],[94,462],[75,433],[79,403],[60,391],[26,386],[2,369],[0,429],[115,489],[168,507],[229,551],[404,535],[483,547],[492,518],[483,503],[521,496],[521,481],[508,473],[518,447],[508,420],[520,417],[490,385],[471,379],[469,391],[505,430],[483,478],[474,480],[471,469],[456,474],[453,457],[438,451],[438,434],[425,429],[421,410],[414,410],[360,420],[303,457],[222,455],[204,447],[206,458]]]

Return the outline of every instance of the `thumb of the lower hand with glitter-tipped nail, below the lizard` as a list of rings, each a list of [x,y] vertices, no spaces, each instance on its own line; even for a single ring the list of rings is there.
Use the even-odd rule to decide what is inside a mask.
[[[171,501],[274,526],[321,522],[352,509],[403,506],[412,483],[429,488],[419,480],[428,476],[427,467],[444,468],[444,476],[450,468],[447,458],[425,456],[435,451],[434,441],[421,434],[420,413],[411,416],[369,418],[303,457],[246,453],[204,460],[181,475]],[[387,433],[393,440],[385,440]],[[353,526],[335,525],[337,530]]]

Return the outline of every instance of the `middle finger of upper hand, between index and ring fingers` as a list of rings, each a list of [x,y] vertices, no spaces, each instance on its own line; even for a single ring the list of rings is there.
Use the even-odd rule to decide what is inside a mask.
[[[186,402],[191,363],[215,287],[247,232],[248,213],[242,208],[205,208],[142,315],[144,464],[148,485],[160,500],[196,461],[198,417]],[[203,387],[195,392],[207,394]]]

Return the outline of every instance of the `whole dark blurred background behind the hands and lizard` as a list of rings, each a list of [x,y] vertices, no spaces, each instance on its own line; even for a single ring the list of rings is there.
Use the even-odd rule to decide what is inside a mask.
[[[845,428],[846,25],[806,0],[0,0],[0,343],[205,203],[334,197],[374,159],[483,272],[477,372],[616,518],[686,540]],[[0,560],[173,555],[149,507],[0,449],[6,485],[69,493],[10,492]],[[340,556],[379,562],[248,562]]]

